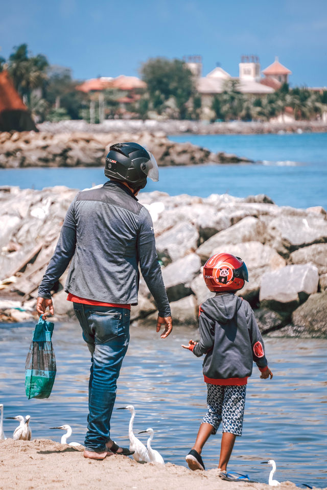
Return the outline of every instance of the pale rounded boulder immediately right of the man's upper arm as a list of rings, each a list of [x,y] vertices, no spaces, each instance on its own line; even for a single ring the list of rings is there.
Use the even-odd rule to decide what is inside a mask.
[[[176,261],[197,249],[198,230],[188,222],[175,225],[156,239],[159,260],[164,263]]]

